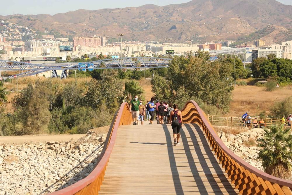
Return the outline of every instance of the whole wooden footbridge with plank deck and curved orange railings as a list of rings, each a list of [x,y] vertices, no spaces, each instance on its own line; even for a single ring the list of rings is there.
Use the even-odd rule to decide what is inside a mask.
[[[132,125],[123,103],[94,170],[52,195],[291,194],[291,181],[232,153],[196,102],[188,101],[182,115],[181,144],[174,146],[171,125]]]

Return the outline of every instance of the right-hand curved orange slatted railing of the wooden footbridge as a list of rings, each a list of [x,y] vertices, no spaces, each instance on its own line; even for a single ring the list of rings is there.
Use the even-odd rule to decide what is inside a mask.
[[[291,181],[264,173],[230,151],[196,102],[188,101],[181,112],[183,123],[196,123],[203,129],[217,159],[240,194],[291,194]]]

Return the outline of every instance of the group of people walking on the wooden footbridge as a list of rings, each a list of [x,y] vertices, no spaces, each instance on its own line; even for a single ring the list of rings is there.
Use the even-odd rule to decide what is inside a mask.
[[[182,127],[182,113],[178,110],[178,105],[167,103],[166,101],[158,101],[154,103],[155,98],[152,97],[150,101],[147,101],[146,105],[143,105],[141,100],[138,100],[136,95],[130,103],[130,110],[133,118],[133,125],[138,125],[141,121],[143,125],[144,116],[145,119],[150,119],[149,125],[153,124],[154,115],[156,113],[159,124],[163,124],[163,117],[167,116],[168,122],[171,124],[173,130],[174,145],[180,144],[180,130]]]

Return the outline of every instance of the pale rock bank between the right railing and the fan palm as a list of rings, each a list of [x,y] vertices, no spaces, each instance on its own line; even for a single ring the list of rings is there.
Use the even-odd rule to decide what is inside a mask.
[[[263,129],[255,128],[253,130],[247,130],[245,132],[234,134],[227,132],[218,128],[217,134],[223,143],[244,161],[258,168],[259,170],[263,170],[261,161],[257,159],[260,148],[256,146],[257,138],[263,137]]]

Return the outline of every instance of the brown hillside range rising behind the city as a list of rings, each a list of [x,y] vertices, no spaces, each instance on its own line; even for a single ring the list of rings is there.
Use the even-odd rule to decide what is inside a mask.
[[[4,20],[35,30],[53,30],[64,36],[125,33],[127,40],[195,42],[235,40],[267,26],[291,37],[292,6],[275,0],[193,0],[168,6],[144,5],[123,9],[77,10],[55,15],[8,15]],[[275,32],[274,34],[278,34]],[[273,32],[272,32],[273,33]],[[288,33],[288,34],[287,34]],[[268,35],[265,35],[268,36]],[[268,42],[284,41],[283,36]],[[248,40],[247,40],[248,41]]]

